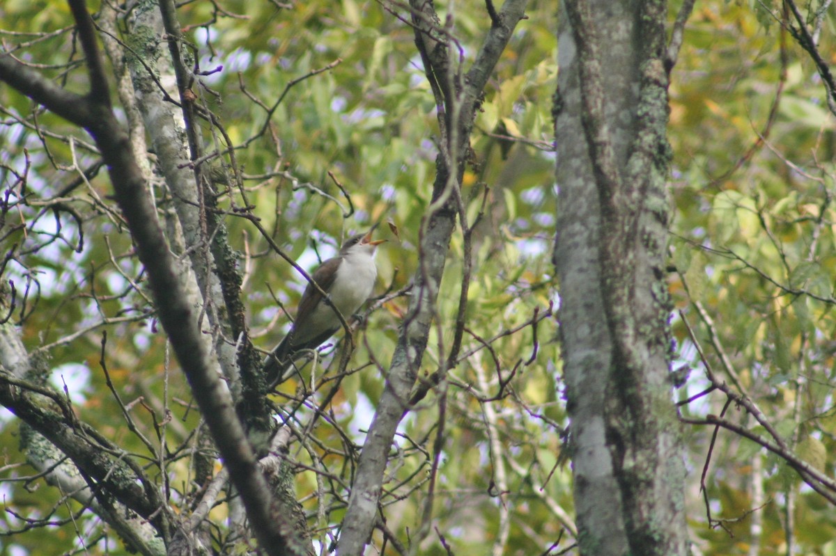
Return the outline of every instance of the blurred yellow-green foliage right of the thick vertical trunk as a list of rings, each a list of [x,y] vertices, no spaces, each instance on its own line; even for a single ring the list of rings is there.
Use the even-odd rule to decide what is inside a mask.
[[[833,10],[817,20],[818,8],[810,5],[809,23],[819,25],[819,52],[832,53]],[[832,476],[833,114],[791,26],[781,3],[701,4],[691,18],[671,87],[671,287],[721,380]],[[694,366],[685,399],[706,387],[703,363],[680,319],[674,330]],[[724,402],[711,393],[683,411],[720,415]],[[732,406],[726,417],[765,432],[750,412]],[[709,457],[711,432],[688,431],[694,475]],[[711,519],[725,521],[706,527],[698,485],[689,485],[697,546],[783,554],[789,529],[794,553],[833,553],[831,505],[759,448],[719,432],[706,502]]]

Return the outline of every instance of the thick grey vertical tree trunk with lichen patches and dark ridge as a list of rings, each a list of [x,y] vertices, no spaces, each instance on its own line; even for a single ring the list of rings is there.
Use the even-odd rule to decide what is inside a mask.
[[[558,225],[582,554],[685,554],[665,286],[664,2],[563,3]]]

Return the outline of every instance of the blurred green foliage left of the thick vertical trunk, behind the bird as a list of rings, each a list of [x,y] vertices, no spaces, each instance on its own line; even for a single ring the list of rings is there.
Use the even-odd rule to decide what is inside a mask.
[[[349,373],[327,414],[317,415],[314,407],[334,384],[327,373],[337,367],[339,356],[333,354],[344,342],[324,352],[313,376],[308,370],[303,380],[285,382],[272,397],[305,438],[290,447],[298,462],[295,485],[325,548],[343,518],[354,457],[385,386],[381,373],[405,313],[402,292],[417,270],[416,245],[440,139],[414,35],[390,13],[403,18],[403,7],[277,6],[186,3],[178,16],[206,72],[193,90],[222,119],[232,144],[240,146],[236,157],[247,200],[227,192],[221,203],[228,211],[228,238],[243,271],[247,321],[257,344],[269,349],[286,330],[288,319],[273,294],[292,312],[304,282],[249,220],[237,217],[247,202],[278,245],[308,269],[333,254],[350,231],[384,223],[375,234],[388,239],[378,256],[376,288],[385,301],[370,304]],[[69,12],[63,4],[54,7],[61,8],[6,4],[7,38],[19,42],[13,33],[69,27]],[[484,552],[493,543],[512,543],[542,551],[561,534],[550,508],[572,504],[568,468],[555,468],[556,423],[563,422],[564,413],[555,382],[557,346],[549,342],[554,336],[548,318],[551,268],[543,255],[553,223],[553,191],[543,184],[553,171],[548,99],[556,73],[549,54],[554,20],[545,5],[529,8],[528,14],[531,19],[513,38],[485,93],[472,139],[473,163],[464,178],[468,218],[471,224],[481,222],[473,242],[470,332],[461,350],[466,356],[451,371],[444,405],[431,394],[410,414],[385,484],[382,503],[385,508],[394,504],[387,528],[401,542],[409,538],[406,531],[421,524],[434,457],[440,468],[433,523],[447,543],[462,550]],[[482,8],[456,15],[456,37],[466,52],[476,48],[486,21]],[[123,33],[126,25],[121,23]],[[84,66],[66,68],[79,58],[73,39],[68,30],[39,38],[19,53],[60,68],[45,71],[83,92]],[[138,48],[137,37],[123,34],[122,39]],[[171,507],[186,515],[202,486],[196,483],[198,463],[190,456],[199,440],[200,416],[155,319],[134,246],[110,202],[109,180],[103,171],[89,176],[89,183],[79,180],[79,168],[96,158],[82,131],[52,114],[38,113],[35,119],[31,101],[10,88],[2,94],[4,184],[13,203],[6,213],[13,234],[5,245],[16,249],[5,269],[16,288],[12,319],[21,324],[30,353],[47,348],[51,380],[55,387],[66,382],[73,388],[70,398],[79,418],[146,465]],[[268,122],[265,106],[274,104]],[[23,122],[32,124],[25,129]],[[39,138],[36,125],[54,136]],[[217,130],[201,125],[206,152],[222,148]],[[510,143],[497,133],[529,143]],[[149,159],[153,167],[154,155]],[[171,221],[171,192],[159,172],[154,187],[161,219]],[[24,200],[24,191],[31,197]],[[392,226],[387,229],[385,222]],[[454,238],[436,307],[437,331],[431,333],[422,374],[433,372],[450,349],[463,248],[461,237]],[[536,331],[526,326],[534,316]],[[135,431],[126,427],[127,418]],[[445,437],[436,444],[442,424]],[[14,437],[22,433],[18,422],[4,420],[3,445],[15,466],[6,478],[36,474],[22,466],[23,457],[13,449]],[[93,513],[81,512],[78,503],[41,482],[32,479],[38,485],[34,496],[28,483],[5,483],[6,525],[13,534],[3,541],[3,553],[60,553],[82,539],[92,553],[125,550]],[[214,543],[246,549],[227,527],[227,512],[222,498],[211,514]],[[74,520],[68,519],[71,513],[77,514]],[[36,518],[56,523],[56,534],[38,533]],[[552,524],[528,524],[546,522]],[[375,543],[380,542],[376,533]],[[444,551],[432,531],[424,545],[427,553]]]

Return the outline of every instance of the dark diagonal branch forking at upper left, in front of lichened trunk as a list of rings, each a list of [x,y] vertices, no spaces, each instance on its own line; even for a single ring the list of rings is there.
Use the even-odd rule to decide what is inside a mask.
[[[83,1],[71,0],[71,3],[83,4]],[[83,22],[89,20],[86,9],[74,5],[74,14],[77,23],[84,28]],[[100,60],[95,60],[99,57],[98,49],[94,41],[84,44],[91,71],[95,72],[101,64]],[[94,83],[98,81],[95,75],[91,78]],[[130,140],[110,105],[103,104],[102,99],[60,91],[37,73],[15,63],[8,55],[0,57],[0,79],[70,122],[83,126],[95,139],[108,165],[116,202],[128,222],[140,261],[148,271],[161,324],[171,339],[171,346],[196,402],[206,417],[206,424],[247,508],[247,516],[259,543],[274,556],[303,553],[298,547],[291,546],[285,532],[278,526],[267,482],[257,467],[255,454],[237,419],[229,391],[209,364],[209,353],[201,341],[195,308],[188,302],[189,297],[175,270],[174,256],[157,220],[145,177],[130,149]],[[94,84],[92,93],[96,93],[96,87],[100,86],[101,83]]]

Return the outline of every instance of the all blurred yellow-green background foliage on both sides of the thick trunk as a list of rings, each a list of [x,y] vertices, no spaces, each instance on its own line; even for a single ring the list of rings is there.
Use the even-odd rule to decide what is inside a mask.
[[[672,4],[671,20],[679,8]],[[98,3],[88,5],[91,12],[99,9]],[[489,19],[483,3],[450,5],[466,70]],[[815,14],[828,5],[813,2],[805,9]],[[436,6],[443,18],[448,3]],[[349,233],[383,223],[375,232],[388,240],[378,256],[381,296],[400,291],[415,273],[438,141],[436,107],[413,33],[393,12],[405,17],[398,3],[353,0],[196,0],[178,10],[196,63],[207,73],[193,90],[237,145],[255,214],[308,269],[333,255]],[[477,223],[462,349],[467,356],[446,388],[433,506],[434,524],[456,553],[487,553],[497,543],[498,553],[539,554],[572,543],[558,518],[573,513],[573,500],[570,468],[558,464],[568,422],[556,321],[540,321],[536,349],[532,326],[517,330],[535,311],[543,316],[558,301],[550,262],[557,207],[550,111],[558,16],[555,3],[540,0],[527,13],[485,92],[463,184],[470,225]],[[808,55],[782,28],[784,17],[778,2],[706,0],[686,28],[670,87],[670,253],[676,269],[670,287],[715,371],[755,399],[802,457],[832,476],[833,116]],[[833,8],[820,19],[820,52],[833,64]],[[8,0],[0,20],[6,48],[23,43],[16,55],[84,92],[86,73],[72,47],[65,3]],[[165,472],[171,503],[186,508],[194,473],[186,448],[194,445],[199,415],[155,323],[130,237],[112,209],[108,179],[104,172],[91,176],[89,184],[62,194],[66,199],[56,209],[54,197],[79,179],[79,167],[94,162],[89,139],[5,86],[0,109],[3,189],[16,183],[14,172],[27,172],[27,202],[5,214],[7,226],[23,225],[3,240],[4,251],[13,245],[19,250],[3,274],[4,294],[10,295],[8,280],[17,290],[12,318],[21,323],[30,352],[48,357],[51,381],[62,390],[66,385],[79,417],[145,458],[151,475],[160,474],[107,386],[99,362],[107,331],[110,380],[140,432],[153,442],[165,435],[173,459]],[[221,145],[208,125],[204,137],[207,152]],[[161,184],[155,184],[155,195],[166,210],[170,196]],[[233,209],[243,203],[237,194],[222,198],[230,210],[230,242],[241,253],[251,332],[258,346],[269,349],[288,321],[271,290],[293,311],[303,281],[247,220],[236,217]],[[450,347],[462,256],[461,235],[454,235],[438,329],[431,333],[422,372],[432,372]],[[291,456],[304,466],[328,470],[326,478],[310,468],[297,475],[299,498],[325,546],[325,530],[342,518],[340,500],[356,456],[344,434],[362,442],[384,387],[378,368],[389,363],[405,312],[405,297],[390,297],[365,321],[351,366],[359,372],[341,383],[329,420],[320,419],[309,431],[308,447],[292,447]],[[692,367],[686,387],[675,393],[684,400],[707,382],[679,314],[673,326],[676,364]],[[320,361],[315,379],[331,359]],[[515,368],[500,390],[497,377]],[[308,386],[314,378],[304,376]],[[288,381],[274,401],[284,403],[285,395],[302,387]],[[321,387],[315,400],[329,383]],[[502,397],[492,399],[497,393]],[[437,400],[427,397],[400,428],[397,463],[390,466],[382,500],[387,527],[398,538],[421,523],[432,442],[441,424]],[[695,417],[719,414],[722,402],[709,395],[681,410]],[[754,427],[745,412],[731,413]],[[298,427],[311,414],[309,407],[299,408]],[[11,480],[33,470],[22,465],[17,451],[25,431],[8,412],[0,423],[6,510],[0,553],[66,553],[79,546],[79,538],[91,545],[89,553],[125,553],[103,523],[79,513],[77,503],[42,480]],[[711,518],[725,521],[709,523],[699,488],[711,430],[684,432],[695,553],[784,554],[790,530],[793,553],[836,554],[833,508],[803,488],[777,457],[731,432],[720,432],[706,476]],[[318,516],[321,507],[327,512]],[[222,505],[212,513],[219,538],[225,511]],[[35,519],[46,521],[48,534],[26,521]],[[375,543],[381,543],[379,536]],[[423,548],[446,553],[435,535]]]

